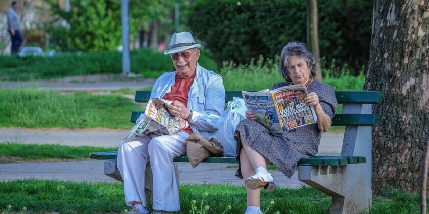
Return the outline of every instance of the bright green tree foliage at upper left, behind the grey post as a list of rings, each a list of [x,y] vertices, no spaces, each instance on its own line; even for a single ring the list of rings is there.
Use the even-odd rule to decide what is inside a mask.
[[[60,50],[113,50],[122,44],[121,1],[70,1],[70,11],[60,7],[58,0],[49,0],[57,17],[49,27],[51,43]],[[129,1],[130,39],[140,29],[147,29],[149,21],[170,24],[166,17],[173,10],[172,1]],[[144,9],[143,9],[144,8]],[[170,9],[170,10],[169,10]]]

